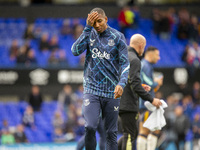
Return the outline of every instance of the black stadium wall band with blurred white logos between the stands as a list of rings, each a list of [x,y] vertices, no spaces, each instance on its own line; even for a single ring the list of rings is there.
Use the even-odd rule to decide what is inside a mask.
[[[189,78],[185,68],[156,68],[157,73],[164,74],[164,84],[160,91],[163,96],[178,92],[180,83],[199,81],[200,69],[193,78]],[[31,85],[39,85],[47,100],[57,99],[63,85],[71,84],[76,89],[83,81],[83,70],[68,69],[1,69],[0,70],[0,100],[5,97],[15,97],[24,100],[30,92]],[[189,87],[192,85],[189,84]],[[17,97],[17,98],[16,98]]]

